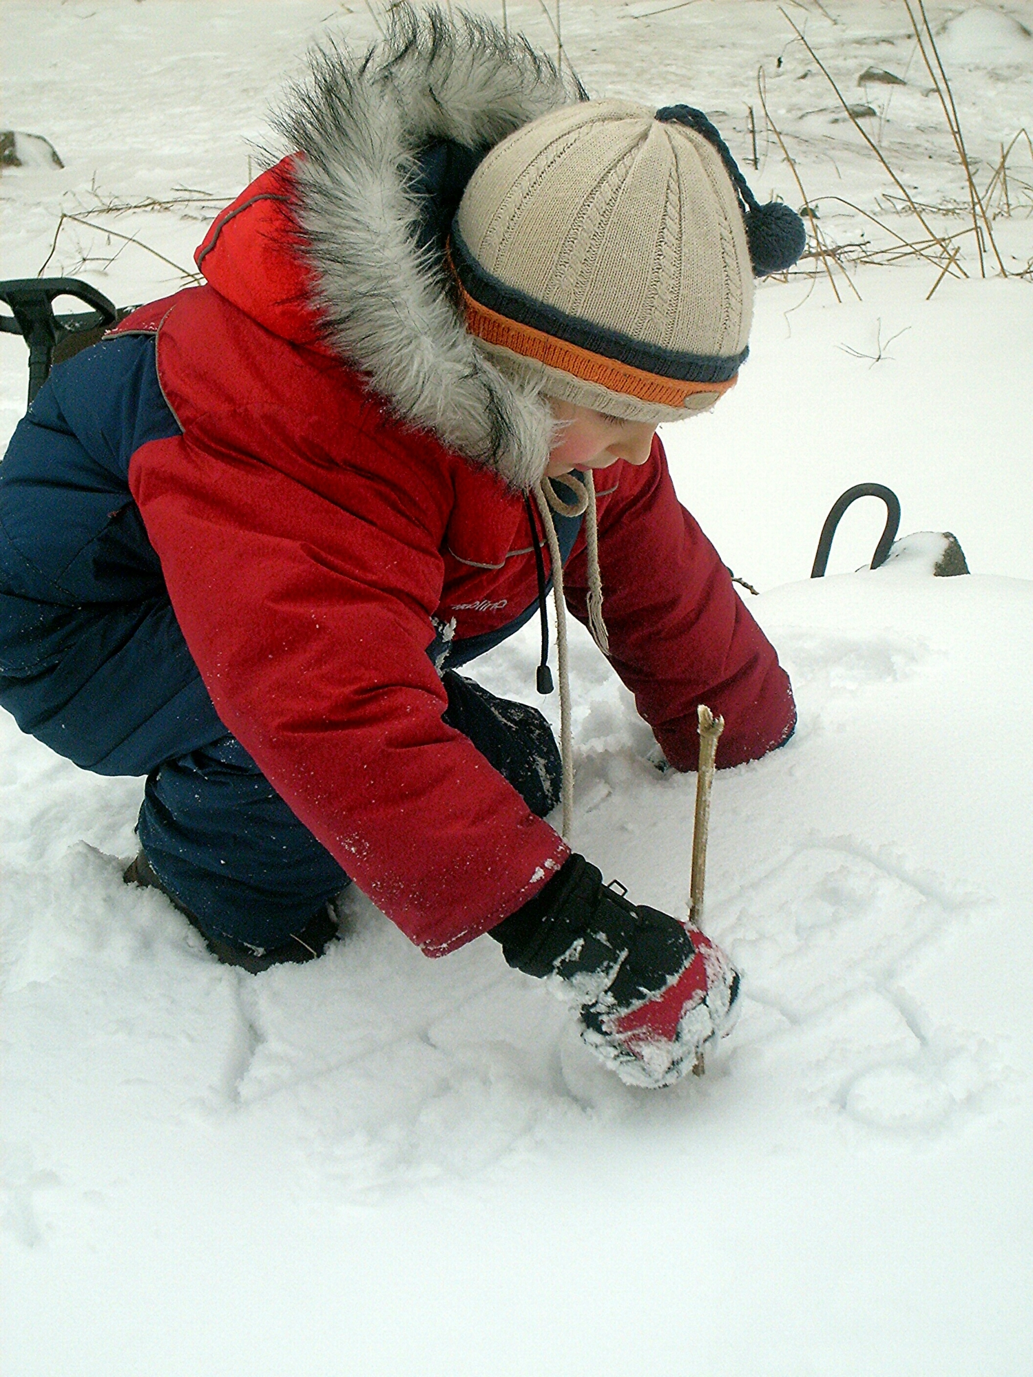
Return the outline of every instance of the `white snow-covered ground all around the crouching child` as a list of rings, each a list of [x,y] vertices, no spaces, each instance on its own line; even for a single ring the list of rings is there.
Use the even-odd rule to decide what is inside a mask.
[[[500,0],[475,7],[501,18]],[[963,231],[904,6],[785,8],[875,110],[865,127],[937,233]],[[193,266],[307,43],[362,43],[382,10],[7,0],[0,124],[51,139],[65,168],[4,169],[3,275],[54,249],[48,273],[118,303],[175,291],[150,251]],[[555,48],[540,4],[507,11]],[[1033,132],[1033,6],[928,12],[983,189]],[[775,4],[563,0],[561,28],[592,94],[702,106],[760,198],[799,205],[763,66],[825,240],[866,235],[853,252],[870,256],[890,231],[919,237]],[[872,66],[906,84],[858,84]],[[142,781],[83,774],[0,719],[6,1373],[1033,1370],[1022,140],[1008,171],[993,227],[1010,278],[992,257],[979,275],[971,233],[954,241],[968,277],[931,300],[927,260],[850,267],[859,300],[835,266],[842,303],[804,262],[760,288],[734,394],[665,434],[682,500],[762,589],[744,596],[800,708],[784,750],[715,784],[707,925],[745,998],[702,1080],[620,1085],[494,943],[427,961],[358,895],[324,960],[218,965],[120,881]],[[0,346],[6,443],[26,354]],[[828,507],[861,481],[898,492],[904,533],[953,530],[972,576],[853,573],[881,529],[868,501],[833,577],[808,581]],[[650,733],[587,636],[573,657],[572,840],[682,912],[694,779],[646,763]],[[537,701],[533,665],[529,631],[475,672]]]

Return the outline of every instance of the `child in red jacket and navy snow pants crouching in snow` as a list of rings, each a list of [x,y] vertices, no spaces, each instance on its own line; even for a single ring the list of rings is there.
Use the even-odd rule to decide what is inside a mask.
[[[561,676],[566,603],[671,766],[701,701],[724,766],[788,738],[656,427],[734,384],[752,271],[799,256],[799,219],[698,112],[588,102],[437,10],[317,55],[280,127],[296,151],[218,218],[207,285],[58,368],[11,441],[0,701],[147,775],[127,879],[223,960],[320,954],[354,880],[428,956],[490,932],[624,1080],[671,1084],[738,978],[544,821],[569,709],[561,757],[456,669],[536,613],[544,639],[555,578]]]

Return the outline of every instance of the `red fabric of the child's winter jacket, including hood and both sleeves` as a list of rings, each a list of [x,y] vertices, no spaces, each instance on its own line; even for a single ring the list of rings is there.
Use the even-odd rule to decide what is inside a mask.
[[[157,329],[183,430],[136,452],[129,485],[222,722],[359,888],[437,956],[512,913],[569,854],[442,723],[427,655],[434,620],[475,636],[534,600],[522,472],[439,438],[474,414],[460,405],[468,369],[455,408],[427,403],[427,387],[416,401],[402,383],[390,391],[391,340],[362,317],[376,284],[355,285],[354,310],[328,329],[335,292],[350,291],[348,235],[365,224],[337,226],[329,248],[299,229],[299,169],[285,160],[219,216],[197,255],[208,285],[124,322]],[[355,344],[347,330],[366,325],[372,343]],[[398,351],[426,362],[409,328]],[[456,332],[442,351],[466,347]],[[342,361],[342,337],[362,372]],[[437,434],[417,424],[427,405],[444,417]],[[596,479],[610,658],[667,759],[694,767],[702,700],[726,719],[723,766],[762,756],[792,730],[789,682],[679,505],[660,441],[643,467]],[[585,621],[583,534],[565,585]]]

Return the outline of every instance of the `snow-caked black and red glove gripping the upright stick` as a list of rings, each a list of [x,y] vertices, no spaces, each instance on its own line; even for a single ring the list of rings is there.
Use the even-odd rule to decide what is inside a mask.
[[[492,936],[511,967],[577,1004],[581,1038],[628,1085],[674,1085],[738,1013],[720,947],[603,885],[580,855]]]

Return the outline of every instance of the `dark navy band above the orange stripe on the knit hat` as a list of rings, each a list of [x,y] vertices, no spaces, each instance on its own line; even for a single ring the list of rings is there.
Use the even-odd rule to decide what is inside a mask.
[[[576,344],[578,348],[614,359],[617,364],[638,368],[643,373],[671,377],[679,383],[727,383],[735,376],[749,354],[748,348],[729,357],[680,354],[660,344],[645,344],[629,335],[606,329],[603,325],[594,325],[591,321],[567,315],[566,311],[559,311],[554,306],[545,306],[544,302],[536,302],[526,292],[507,286],[505,282],[481,267],[464,244],[455,220],[452,222],[452,264],[463,289],[489,311],[497,311],[499,315],[504,315],[510,321],[529,325],[554,339]]]

